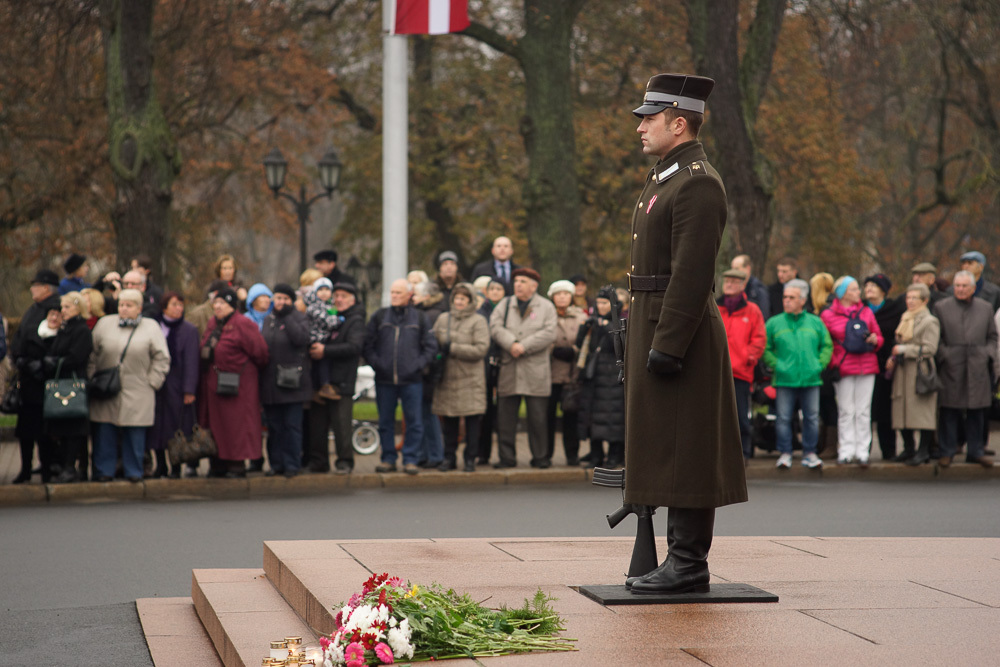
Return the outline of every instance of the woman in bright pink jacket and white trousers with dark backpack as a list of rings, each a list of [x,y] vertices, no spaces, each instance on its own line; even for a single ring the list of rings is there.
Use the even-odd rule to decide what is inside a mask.
[[[833,338],[830,366],[840,368],[837,425],[840,442],[837,464],[868,466],[872,445],[872,390],[878,373],[875,350],[882,347],[882,332],[875,316],[861,303],[861,288],[851,276],[841,276],[833,286],[833,304],[820,317]]]

